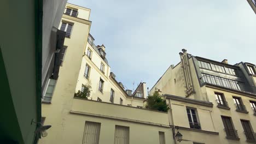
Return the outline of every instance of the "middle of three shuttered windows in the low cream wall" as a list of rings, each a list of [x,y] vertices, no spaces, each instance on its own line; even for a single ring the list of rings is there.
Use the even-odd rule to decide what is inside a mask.
[[[114,144],[129,144],[130,130],[129,127],[115,125],[115,142]]]

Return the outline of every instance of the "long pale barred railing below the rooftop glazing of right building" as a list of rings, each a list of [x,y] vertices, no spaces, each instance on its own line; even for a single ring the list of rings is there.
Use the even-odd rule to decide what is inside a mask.
[[[241,88],[238,85],[237,81],[224,79],[222,77],[203,74],[203,76],[201,77],[201,82],[202,83],[207,82],[207,83],[210,83],[212,85],[222,86],[222,87],[236,89],[238,91],[241,91]]]

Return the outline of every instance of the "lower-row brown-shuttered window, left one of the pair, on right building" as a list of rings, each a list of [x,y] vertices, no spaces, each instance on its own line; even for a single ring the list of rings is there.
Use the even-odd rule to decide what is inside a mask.
[[[224,125],[224,130],[226,131],[226,137],[227,138],[228,137],[238,138],[237,130],[234,129],[231,118],[222,116],[222,122],[223,122],[223,125]]]

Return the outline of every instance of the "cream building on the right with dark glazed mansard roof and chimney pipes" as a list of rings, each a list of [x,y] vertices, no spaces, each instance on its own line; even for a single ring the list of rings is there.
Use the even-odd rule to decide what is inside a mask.
[[[179,55],[150,93],[164,94],[183,143],[255,143],[255,65]]]

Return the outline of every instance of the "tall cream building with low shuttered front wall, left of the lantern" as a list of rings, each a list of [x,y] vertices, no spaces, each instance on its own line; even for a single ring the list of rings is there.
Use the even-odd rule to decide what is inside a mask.
[[[64,13],[66,51],[42,100],[43,123],[52,127],[39,143],[173,143],[168,113],[143,109],[146,83],[132,92],[110,73],[104,45],[95,46],[89,34],[90,9],[68,3]],[[89,81],[89,99],[75,98]]]

